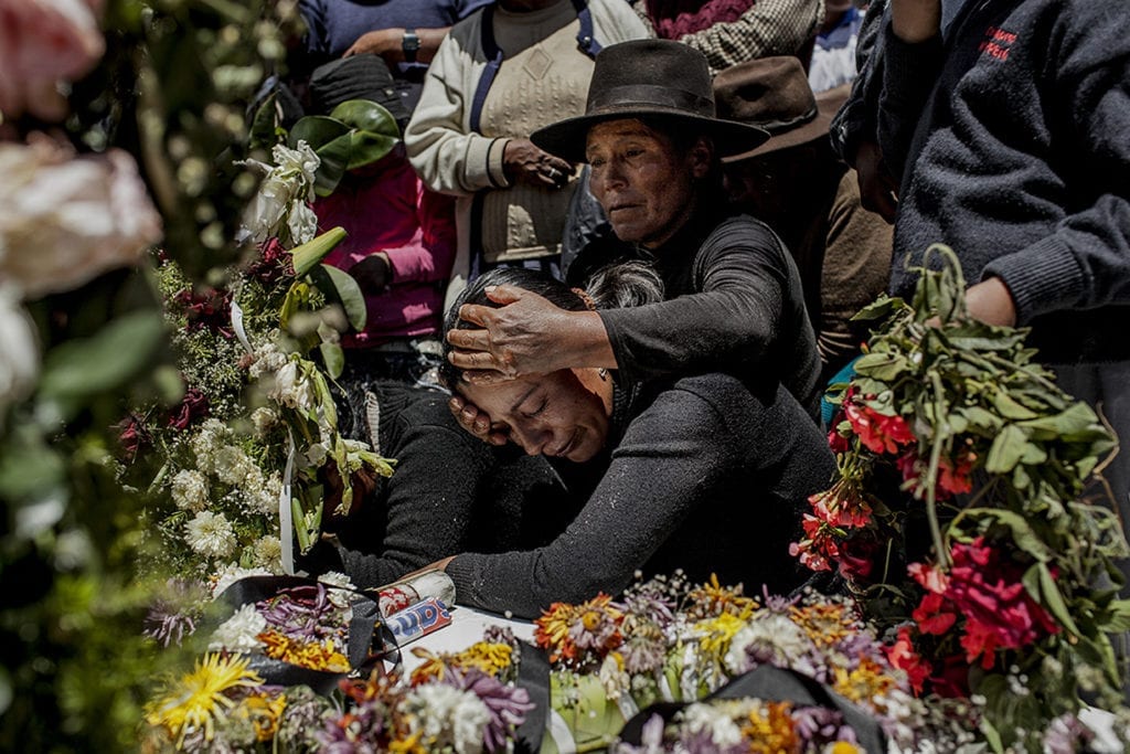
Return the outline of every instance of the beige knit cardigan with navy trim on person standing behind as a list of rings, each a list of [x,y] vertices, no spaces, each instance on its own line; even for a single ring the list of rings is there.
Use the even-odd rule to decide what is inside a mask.
[[[589,0],[593,34],[602,45],[646,36],[623,0]],[[573,3],[513,14],[495,9],[494,33],[505,57],[480,116],[470,130],[471,101],[486,68],[483,14],[452,27],[428,68],[424,92],[405,132],[412,166],[436,191],[459,197],[459,249],[447,302],[462,291],[472,248],[487,262],[560,253],[565,213],[575,184],[551,190],[514,183],[502,156],[512,138],[584,112],[593,62],[579,47]],[[471,237],[472,203],[485,191],[481,236]]]

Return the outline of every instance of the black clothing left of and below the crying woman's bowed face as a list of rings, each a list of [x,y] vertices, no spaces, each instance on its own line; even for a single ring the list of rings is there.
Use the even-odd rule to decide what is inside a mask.
[[[545,458],[471,436],[451,415],[447,393],[392,381],[366,389],[380,407],[380,452],[395,459],[395,470],[337,523],[340,545],[323,545],[307,562],[332,567],[337,558],[334,570],[370,589],[455,553],[542,545],[576,512]],[[363,392],[353,406],[339,401],[341,428],[372,442]]]

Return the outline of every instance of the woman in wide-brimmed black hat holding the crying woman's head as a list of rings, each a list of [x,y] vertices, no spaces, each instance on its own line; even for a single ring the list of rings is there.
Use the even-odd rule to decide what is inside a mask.
[[[501,286],[498,309],[464,306],[479,330],[449,333],[464,380],[489,383],[563,367],[615,369],[638,382],[728,372],[762,395],[779,384],[816,416],[820,362],[789,251],[764,223],[731,216],[720,158],[768,138],[715,118],[703,55],[646,40],[597,57],[585,114],[531,137],[547,151],[588,162],[592,191],[629,257],[649,260],[667,301],[634,309],[564,312]],[[576,262],[574,262],[576,263]],[[470,431],[492,442],[489,417],[454,398]]]

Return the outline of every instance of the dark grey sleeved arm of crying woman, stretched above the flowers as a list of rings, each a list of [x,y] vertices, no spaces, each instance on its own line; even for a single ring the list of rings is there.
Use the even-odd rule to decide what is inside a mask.
[[[632,421],[608,471],[564,534],[528,552],[457,555],[457,600],[532,618],[553,601],[617,593],[736,465],[740,447],[699,396],[666,390]]]

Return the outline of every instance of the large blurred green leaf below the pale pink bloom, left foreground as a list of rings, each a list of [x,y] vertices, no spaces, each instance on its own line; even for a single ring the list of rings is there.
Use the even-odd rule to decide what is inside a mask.
[[[165,324],[156,311],[111,320],[93,337],[67,341],[47,353],[40,393],[66,400],[124,384],[151,363],[164,336]]]

